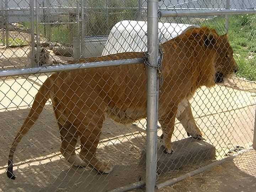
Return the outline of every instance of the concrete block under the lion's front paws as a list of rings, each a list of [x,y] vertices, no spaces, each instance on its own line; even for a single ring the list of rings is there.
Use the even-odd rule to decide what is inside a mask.
[[[180,169],[187,164],[215,160],[215,147],[202,140],[192,137],[181,139],[172,143],[174,153],[165,154],[164,148],[158,148],[157,172],[168,172]],[[146,153],[142,151],[140,164],[145,166]]]

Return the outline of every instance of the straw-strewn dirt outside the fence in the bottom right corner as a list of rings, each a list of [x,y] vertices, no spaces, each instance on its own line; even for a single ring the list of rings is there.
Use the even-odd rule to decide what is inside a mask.
[[[156,192],[254,192],[256,187],[256,151],[249,150],[201,174]],[[134,190],[134,192],[140,190]]]

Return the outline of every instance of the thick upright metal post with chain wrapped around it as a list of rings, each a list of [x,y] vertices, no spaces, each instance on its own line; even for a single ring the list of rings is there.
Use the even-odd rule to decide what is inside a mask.
[[[146,192],[155,191],[157,143],[158,0],[148,1],[148,67],[146,129]]]

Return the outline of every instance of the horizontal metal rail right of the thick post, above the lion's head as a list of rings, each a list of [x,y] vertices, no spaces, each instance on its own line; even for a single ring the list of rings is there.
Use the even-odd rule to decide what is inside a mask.
[[[238,14],[256,14],[256,9],[217,9],[217,10],[196,10],[196,11],[159,11],[159,17],[177,17],[177,16],[204,16],[204,15],[238,15]]]

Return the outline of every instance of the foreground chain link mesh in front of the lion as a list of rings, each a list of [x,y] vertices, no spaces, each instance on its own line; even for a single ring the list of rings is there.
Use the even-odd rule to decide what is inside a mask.
[[[157,187],[251,149],[255,2],[159,1],[161,67],[149,64],[147,6],[0,0],[1,190],[144,186],[151,69],[159,81]]]

